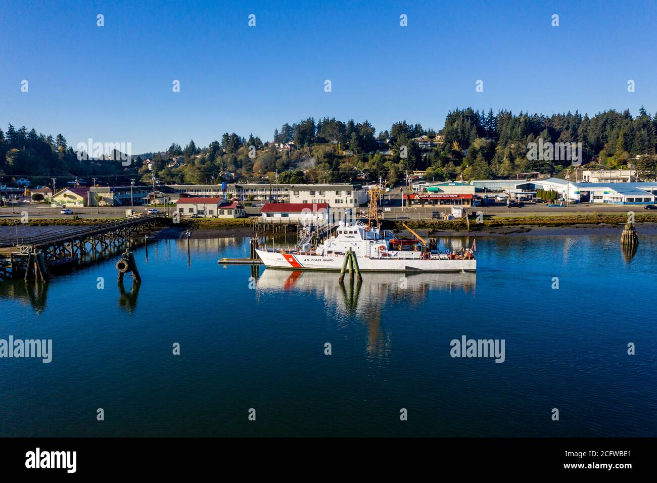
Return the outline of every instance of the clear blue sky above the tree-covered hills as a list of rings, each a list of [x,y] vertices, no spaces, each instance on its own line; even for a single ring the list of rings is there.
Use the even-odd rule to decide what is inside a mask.
[[[308,116],[379,130],[440,129],[466,106],[654,114],[656,31],[656,1],[0,0],[0,127],[136,154],[226,131],[266,141]]]

